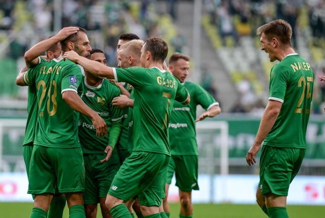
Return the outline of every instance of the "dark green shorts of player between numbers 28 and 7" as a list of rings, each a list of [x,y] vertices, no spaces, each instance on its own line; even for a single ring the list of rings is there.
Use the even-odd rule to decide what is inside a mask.
[[[109,161],[101,163],[106,154],[83,154],[85,161],[85,192],[84,204],[98,204],[100,198],[106,198],[112,180],[120,168],[117,152],[112,154]]]

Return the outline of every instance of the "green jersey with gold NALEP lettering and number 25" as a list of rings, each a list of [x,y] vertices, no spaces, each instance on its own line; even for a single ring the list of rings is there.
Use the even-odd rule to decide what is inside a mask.
[[[283,104],[264,144],[279,148],[306,148],[313,86],[314,72],[298,54],[287,55],[271,69],[269,100]]]

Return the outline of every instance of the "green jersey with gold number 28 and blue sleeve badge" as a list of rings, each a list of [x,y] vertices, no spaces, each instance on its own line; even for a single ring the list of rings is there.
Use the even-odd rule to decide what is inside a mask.
[[[23,78],[27,85],[37,89],[39,110],[34,144],[52,148],[80,147],[79,113],[62,99],[61,93],[82,90],[81,67],[70,60],[53,59],[31,67]]]

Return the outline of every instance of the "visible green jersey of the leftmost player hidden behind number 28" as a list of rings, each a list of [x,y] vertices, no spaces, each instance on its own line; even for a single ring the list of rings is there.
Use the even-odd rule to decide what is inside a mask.
[[[42,57],[39,57],[39,63],[46,62]],[[28,95],[27,95],[27,122],[25,129],[25,137],[23,145],[28,144],[29,142],[34,142],[35,138],[35,128],[37,123],[38,116],[38,103],[36,97],[36,87],[28,86]]]

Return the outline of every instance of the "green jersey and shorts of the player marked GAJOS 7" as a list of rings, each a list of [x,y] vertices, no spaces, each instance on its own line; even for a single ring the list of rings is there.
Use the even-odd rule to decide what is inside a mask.
[[[174,99],[188,92],[169,72],[156,67],[113,68],[116,81],[134,87],[133,152],[115,175],[109,194],[122,200],[139,195],[140,205],[160,206],[170,161],[169,117]]]

